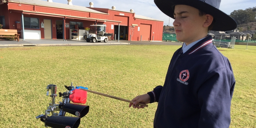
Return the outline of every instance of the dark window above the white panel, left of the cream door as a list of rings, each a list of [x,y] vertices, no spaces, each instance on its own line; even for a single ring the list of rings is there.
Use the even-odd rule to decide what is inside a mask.
[[[22,20],[21,20],[21,22],[22,22]],[[22,25],[21,25],[21,27],[22,27]],[[40,29],[39,18],[24,17],[24,28]]]

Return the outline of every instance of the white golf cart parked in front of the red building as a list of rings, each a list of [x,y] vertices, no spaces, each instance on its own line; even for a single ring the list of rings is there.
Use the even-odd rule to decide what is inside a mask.
[[[90,25],[90,30],[88,34],[88,38],[86,38],[87,42],[92,41],[95,43],[96,41],[107,42],[107,36],[105,35],[106,32],[106,25]]]

